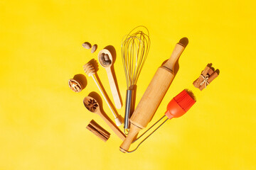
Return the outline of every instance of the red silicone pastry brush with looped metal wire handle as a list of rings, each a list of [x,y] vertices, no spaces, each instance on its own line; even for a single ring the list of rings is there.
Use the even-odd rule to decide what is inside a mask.
[[[181,117],[181,115],[185,114],[193,106],[194,103],[196,103],[196,98],[195,96],[193,96],[193,93],[191,91],[188,91],[187,89],[181,91],[181,93],[172,98],[169,104],[167,105],[167,111],[165,113],[165,115],[167,116],[166,120]],[[164,118],[165,115],[162,118]],[[156,123],[159,123],[159,121],[162,118],[160,118]],[[164,120],[164,122],[161,123],[161,125],[163,125],[166,122],[166,120]],[[154,125],[156,125],[156,123],[154,123]],[[146,130],[146,132],[149,131],[152,127],[154,127],[154,125],[152,125],[148,130]],[[158,128],[160,128],[161,125],[159,125],[159,127],[157,127],[153,132],[151,132],[151,134],[149,134],[144,140],[146,140]],[[146,132],[144,132],[142,135],[144,135]],[[142,137],[142,135],[140,137]],[[138,137],[137,140],[139,140],[140,137]],[[137,140],[134,140],[134,142]],[[144,140],[142,140],[142,142],[144,142]],[[139,145],[141,145],[142,142],[140,142]],[[134,150],[129,151],[127,153],[134,152],[139,147],[139,145]]]

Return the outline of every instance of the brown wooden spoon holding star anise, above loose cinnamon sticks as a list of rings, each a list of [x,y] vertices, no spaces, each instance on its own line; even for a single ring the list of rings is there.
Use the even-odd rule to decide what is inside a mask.
[[[85,105],[85,108],[87,108],[88,111],[92,113],[96,113],[97,115],[100,115],[100,117],[105,121],[105,123],[109,125],[109,127],[114,131],[115,134],[117,134],[117,136],[121,140],[125,139],[126,136],[124,135],[124,133],[121,130],[119,130],[117,126],[114,125],[114,123],[110,120],[110,118],[107,115],[103,114],[100,111],[99,103],[97,103],[97,101],[94,98],[87,96],[83,99],[83,103]]]

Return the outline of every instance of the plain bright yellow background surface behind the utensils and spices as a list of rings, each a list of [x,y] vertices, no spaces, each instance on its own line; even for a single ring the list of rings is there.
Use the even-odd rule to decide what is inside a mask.
[[[0,169],[256,169],[255,1],[0,1],[0,13]],[[82,104],[99,93],[92,78],[79,94],[68,79],[113,45],[125,103],[121,40],[140,25],[149,29],[151,47],[137,102],[176,42],[189,40],[149,125],[185,88],[197,103],[123,154],[119,138]],[[85,41],[98,50],[85,50]],[[192,82],[210,62],[220,76],[199,91]],[[97,74],[113,101],[105,69]],[[110,140],[85,128],[92,119],[112,133]]]

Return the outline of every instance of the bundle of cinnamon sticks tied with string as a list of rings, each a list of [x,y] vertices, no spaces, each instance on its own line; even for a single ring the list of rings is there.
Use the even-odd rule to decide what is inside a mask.
[[[200,77],[198,77],[196,81],[193,81],[193,85],[196,88],[200,89],[201,91],[203,89],[206,89],[206,86],[208,86],[210,82],[213,81],[213,79],[218,77],[219,70],[218,69],[215,70],[211,66],[212,64],[208,64],[206,68],[203,70],[203,72],[201,73]]]

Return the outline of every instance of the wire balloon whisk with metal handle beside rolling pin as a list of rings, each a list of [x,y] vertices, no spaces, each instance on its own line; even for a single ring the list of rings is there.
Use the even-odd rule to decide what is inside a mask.
[[[146,30],[146,33],[144,33],[142,30],[139,30],[142,28]],[[122,62],[127,81],[127,96],[124,114],[124,132],[127,134],[129,131],[129,118],[134,111],[134,99],[132,98],[134,95],[134,88],[137,84],[139,74],[142,71],[142,67],[149,53],[149,30],[144,26],[138,26],[137,28],[134,28],[128,35],[124,36],[121,47]]]

